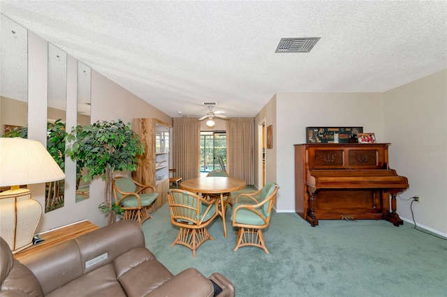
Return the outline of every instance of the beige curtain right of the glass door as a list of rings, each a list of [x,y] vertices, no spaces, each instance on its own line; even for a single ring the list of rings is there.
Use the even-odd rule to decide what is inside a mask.
[[[231,118],[226,124],[228,175],[254,185],[254,118]]]

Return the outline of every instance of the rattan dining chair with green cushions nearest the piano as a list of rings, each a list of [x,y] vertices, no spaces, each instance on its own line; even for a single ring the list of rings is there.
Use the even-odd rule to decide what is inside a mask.
[[[264,234],[261,231],[268,227],[272,207],[279,190],[276,183],[266,183],[264,188],[251,194],[240,194],[235,199],[231,221],[233,227],[238,227],[235,251],[243,246],[252,245],[270,252],[265,247]],[[248,201],[238,203],[242,197]]]

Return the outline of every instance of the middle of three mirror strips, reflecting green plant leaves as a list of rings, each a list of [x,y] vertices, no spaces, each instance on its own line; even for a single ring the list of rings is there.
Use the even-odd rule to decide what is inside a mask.
[[[65,171],[65,122],[67,93],[67,54],[48,43],[47,151]],[[53,181],[45,188],[45,213],[64,206],[64,181]]]

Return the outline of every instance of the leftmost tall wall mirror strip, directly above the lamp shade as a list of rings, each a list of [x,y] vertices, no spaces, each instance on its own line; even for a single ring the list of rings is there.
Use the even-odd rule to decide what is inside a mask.
[[[0,135],[27,137],[28,31],[0,15],[0,32]]]

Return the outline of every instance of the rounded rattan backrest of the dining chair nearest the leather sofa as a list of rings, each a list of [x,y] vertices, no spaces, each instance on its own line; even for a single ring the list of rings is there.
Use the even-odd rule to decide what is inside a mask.
[[[197,195],[184,191],[171,189],[168,192],[170,215],[173,220],[197,224],[200,220],[202,203]]]

